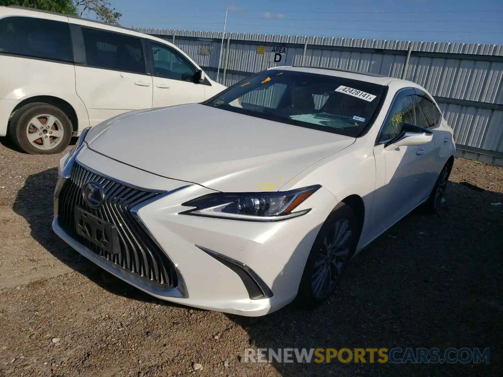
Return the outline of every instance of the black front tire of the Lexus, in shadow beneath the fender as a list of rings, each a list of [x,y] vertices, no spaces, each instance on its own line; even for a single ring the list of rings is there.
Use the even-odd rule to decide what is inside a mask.
[[[350,234],[348,235],[346,231],[343,230],[343,226],[347,225]],[[342,231],[340,233],[339,239],[348,238],[348,240],[343,243],[342,247],[332,249],[332,262],[328,262],[328,257],[326,256],[327,248],[324,246],[324,241],[333,239],[337,230]],[[357,218],[352,208],[345,204],[339,203],[328,215],[327,219],[321,226],[321,229],[314,240],[311,252],[307,258],[306,265],[304,267],[304,272],[302,274],[302,279],[299,285],[299,291],[297,297],[294,300],[294,305],[302,309],[314,309],[323,303],[328,297],[337,289],[341,276],[344,274],[346,265],[355,253],[358,240],[360,238],[361,232],[361,220]],[[328,246],[330,244],[326,242]],[[333,253],[338,251],[337,254]],[[321,261],[323,259],[323,261]],[[320,264],[322,263],[322,264]],[[336,267],[336,265],[338,267]],[[329,282],[325,282],[324,292],[316,290],[315,275],[319,277],[322,274],[324,266],[330,266],[329,274],[326,276],[331,277]]]

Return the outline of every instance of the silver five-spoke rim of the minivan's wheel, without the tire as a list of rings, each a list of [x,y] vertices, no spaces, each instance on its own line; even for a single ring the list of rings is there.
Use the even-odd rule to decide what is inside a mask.
[[[61,121],[54,115],[40,114],[33,117],[26,127],[26,137],[35,148],[52,149],[63,140]]]

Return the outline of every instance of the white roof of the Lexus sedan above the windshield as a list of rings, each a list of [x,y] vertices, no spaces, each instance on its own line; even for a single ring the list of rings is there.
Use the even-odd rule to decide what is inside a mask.
[[[368,73],[368,72],[358,72],[351,71],[346,69],[337,69],[337,68],[319,68],[319,67],[305,67],[305,66],[282,66],[282,67],[273,67],[269,69],[282,69],[289,71],[297,71],[297,72],[309,72],[309,73],[317,73],[324,74],[327,76],[336,76],[336,77],[344,77],[344,78],[352,78],[360,81],[372,82],[379,85],[389,85],[391,81],[394,81],[393,84],[403,86],[413,86],[418,87],[417,84],[407,81],[401,80],[396,77],[384,76],[376,73]]]

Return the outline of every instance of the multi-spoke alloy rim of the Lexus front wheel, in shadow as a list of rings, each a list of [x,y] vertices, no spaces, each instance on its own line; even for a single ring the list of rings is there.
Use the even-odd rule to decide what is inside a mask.
[[[323,298],[331,292],[348,261],[351,248],[351,223],[339,220],[328,232],[318,250],[311,278],[311,289],[316,298]]]

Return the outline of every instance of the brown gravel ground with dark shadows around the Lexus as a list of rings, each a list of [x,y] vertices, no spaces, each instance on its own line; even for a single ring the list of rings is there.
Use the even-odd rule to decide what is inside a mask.
[[[441,211],[376,240],[329,302],[242,318],[158,302],[80,258],[50,230],[60,155],[0,142],[0,375],[501,375],[503,168],[456,159]],[[490,347],[490,364],[239,361],[250,347],[396,346]]]

